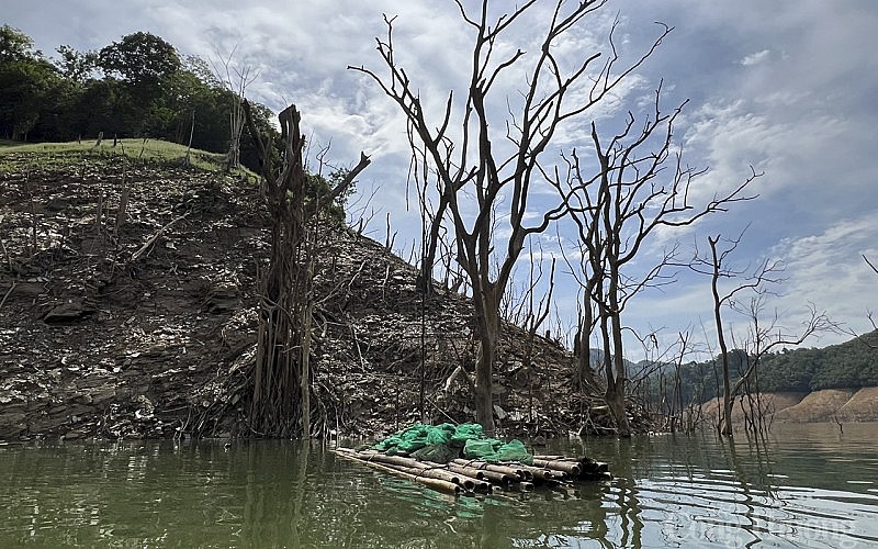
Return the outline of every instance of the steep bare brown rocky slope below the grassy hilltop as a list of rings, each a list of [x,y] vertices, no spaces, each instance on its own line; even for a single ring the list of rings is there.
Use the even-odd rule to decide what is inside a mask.
[[[252,435],[247,380],[268,242],[256,187],[117,159],[3,160],[0,439]],[[386,433],[420,418],[421,404],[427,421],[472,419],[470,303],[441,289],[421,303],[415,269],[360,234],[324,240],[316,434]],[[500,430],[608,426],[600,399],[573,389],[573,357],[537,336],[528,365],[525,336],[507,326],[500,345]],[[634,427],[648,428],[640,417]]]

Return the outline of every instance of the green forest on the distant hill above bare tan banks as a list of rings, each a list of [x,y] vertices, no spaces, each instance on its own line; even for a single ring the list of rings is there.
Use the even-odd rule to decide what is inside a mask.
[[[759,391],[810,392],[823,389],[859,389],[878,386],[878,330],[844,344],[822,349],[784,349],[764,356],[754,383]],[[740,378],[753,357],[743,350],[730,351],[730,367],[734,379]],[[689,362],[680,368],[683,401],[705,402],[722,393],[719,357],[705,362]],[[673,385],[674,367],[661,369],[666,388]],[[651,392],[658,395],[660,373],[651,378]],[[666,389],[667,391],[667,389]]]

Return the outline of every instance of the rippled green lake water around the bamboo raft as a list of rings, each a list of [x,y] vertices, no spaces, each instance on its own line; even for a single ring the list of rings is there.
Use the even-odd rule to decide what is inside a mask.
[[[878,547],[878,424],[552,442],[572,490],[458,497],[301,442],[0,446],[0,548]]]

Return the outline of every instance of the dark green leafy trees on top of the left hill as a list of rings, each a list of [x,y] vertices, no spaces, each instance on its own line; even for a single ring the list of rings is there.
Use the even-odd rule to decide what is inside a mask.
[[[0,27],[0,137],[20,142],[150,137],[212,153],[229,147],[235,92],[209,63],[181,56],[145,32],[123,36],[97,52],[59,46],[57,56],[34,49],[33,40]],[[277,130],[272,112],[252,105],[263,134]],[[279,142],[280,139],[275,139]],[[254,143],[241,137],[240,161],[258,169]]]

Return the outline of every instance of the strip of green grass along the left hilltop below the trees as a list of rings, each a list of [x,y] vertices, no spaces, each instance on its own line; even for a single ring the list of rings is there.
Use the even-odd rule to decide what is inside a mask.
[[[112,158],[124,155],[132,161],[166,166],[183,166],[187,156],[184,145],[166,141],[119,139],[115,147],[113,139],[104,139],[100,146],[95,146],[95,141],[26,144],[0,141],[0,171],[10,169],[11,166],[7,160],[10,155],[14,154],[36,153],[40,157],[37,164],[43,168],[49,168],[56,164],[67,164],[71,156]],[[225,155],[193,148],[189,152],[189,164],[203,170],[222,171],[225,169]],[[238,170],[238,173],[256,177],[245,168]]]

